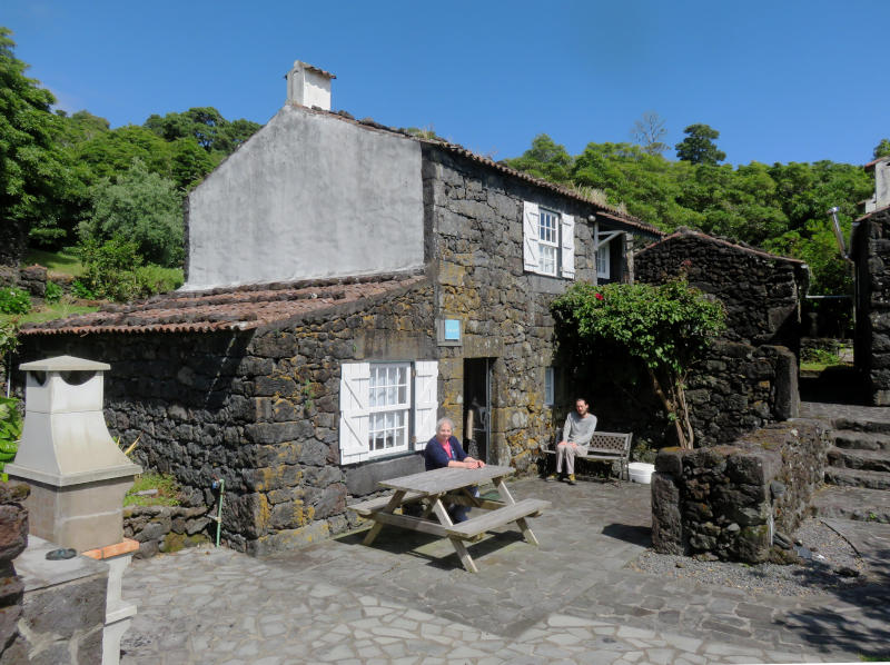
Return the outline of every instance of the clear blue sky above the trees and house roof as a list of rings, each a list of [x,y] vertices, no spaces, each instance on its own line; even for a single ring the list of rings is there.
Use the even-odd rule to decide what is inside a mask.
[[[334,109],[432,127],[495,159],[541,132],[574,153],[656,111],[726,161],[864,163],[890,137],[888,0],[300,2],[4,0],[59,106],[112,127],[212,106],[266,122],[304,60]],[[666,156],[674,158],[674,151]]]

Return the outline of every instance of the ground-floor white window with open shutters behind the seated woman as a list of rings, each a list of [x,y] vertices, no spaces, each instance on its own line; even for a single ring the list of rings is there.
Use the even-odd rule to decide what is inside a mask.
[[[384,369],[388,373],[392,368],[406,369],[404,395],[407,403],[398,397],[398,386],[394,403],[388,396],[385,401],[390,404],[379,404],[378,399],[373,398],[372,390],[377,390],[378,395],[382,389],[376,380],[379,373]],[[372,388],[373,376],[374,388]],[[386,426],[388,413],[400,414],[403,436],[392,446],[378,449],[373,445],[376,440],[372,438],[375,431],[383,431],[384,440],[386,431],[397,431],[396,418],[390,420],[389,427]],[[417,449],[435,436],[437,413],[438,361],[344,363],[340,366],[340,464],[356,464]],[[383,414],[383,427],[377,426],[380,414]]]

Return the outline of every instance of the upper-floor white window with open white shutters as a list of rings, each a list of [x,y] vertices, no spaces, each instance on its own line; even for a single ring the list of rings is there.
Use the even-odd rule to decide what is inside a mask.
[[[547,277],[574,279],[575,218],[532,201],[523,201],[522,222],[523,269]],[[552,234],[545,232],[545,229],[552,229]]]

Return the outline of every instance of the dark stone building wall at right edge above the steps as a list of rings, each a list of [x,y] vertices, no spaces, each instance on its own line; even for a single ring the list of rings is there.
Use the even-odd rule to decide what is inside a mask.
[[[857,266],[856,366],[874,406],[890,406],[890,209],[862,220]]]

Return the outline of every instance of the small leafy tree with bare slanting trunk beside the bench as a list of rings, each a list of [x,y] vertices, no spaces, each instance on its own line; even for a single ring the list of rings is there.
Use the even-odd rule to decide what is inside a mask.
[[[585,363],[591,349],[605,346],[640,360],[674,423],[678,444],[693,447],[685,381],[724,329],[720,301],[706,299],[684,279],[657,286],[576,282],[553,301],[551,311],[566,359]]]

